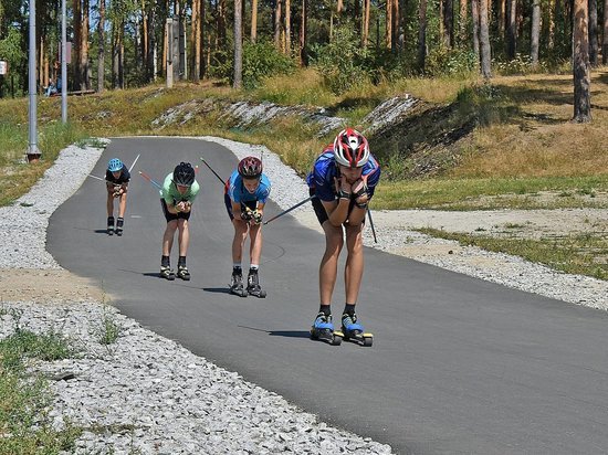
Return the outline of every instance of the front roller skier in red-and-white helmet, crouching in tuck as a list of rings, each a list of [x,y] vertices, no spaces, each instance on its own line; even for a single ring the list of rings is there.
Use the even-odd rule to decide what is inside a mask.
[[[380,178],[380,167],[369,152],[367,139],[347,128],[327,146],[313,165],[306,182],[313,209],[325,233],[325,253],[321,261],[321,305],[311,337],[338,345],[342,338],[371,346],[373,336],[365,334],[355,313],[364,272],[363,229],[367,204]],[[338,257],[346,243],[344,272],[346,303],[340,330],[334,329],[332,295],[337,278]]]

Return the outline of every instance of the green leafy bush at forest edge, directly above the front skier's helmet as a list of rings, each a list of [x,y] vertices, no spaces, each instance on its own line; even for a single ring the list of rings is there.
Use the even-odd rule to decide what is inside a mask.
[[[368,51],[361,49],[353,27],[343,25],[335,30],[328,44],[313,46],[318,67],[327,88],[339,95],[369,80],[366,65]]]

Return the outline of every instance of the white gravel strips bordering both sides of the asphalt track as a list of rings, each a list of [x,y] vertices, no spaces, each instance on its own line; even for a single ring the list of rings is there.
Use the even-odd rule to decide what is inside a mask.
[[[307,197],[303,180],[268,149],[201,139],[227,146],[238,158],[263,152],[272,199],[282,208]],[[0,268],[59,268],[41,234],[51,213],[80,188],[101,152],[69,147],[29,194],[13,207],[0,208]],[[318,229],[311,212],[305,204],[292,213]],[[606,282],[428,237],[408,230],[411,225],[402,222],[405,212],[374,214],[378,244],[367,229],[368,246],[565,301],[608,308]],[[23,315],[19,317],[14,309]],[[38,332],[61,329],[80,347],[77,359],[35,366],[51,377],[74,374],[70,380],[52,381],[56,400],[51,417],[57,427],[69,417],[88,428],[76,453],[391,453],[387,445],[318,422],[281,396],[144,329],[103,303],[3,303],[0,316],[0,338],[13,332],[19,319],[21,327]],[[122,328],[115,343],[99,343],[103,327]]]

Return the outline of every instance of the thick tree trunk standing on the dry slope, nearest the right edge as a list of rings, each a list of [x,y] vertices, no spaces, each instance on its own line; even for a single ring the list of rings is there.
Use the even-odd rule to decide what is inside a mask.
[[[575,0],[573,24],[574,118],[576,123],[591,121],[591,81],[589,77],[588,2]]]

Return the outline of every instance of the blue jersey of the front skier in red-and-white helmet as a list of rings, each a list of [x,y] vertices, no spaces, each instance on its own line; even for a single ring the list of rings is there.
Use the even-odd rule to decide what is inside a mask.
[[[318,199],[331,202],[337,195],[334,181],[337,176],[338,167],[336,166],[333,146],[331,146],[323,150],[323,154],[316,159],[313,170],[306,177],[306,183],[314,190]],[[371,154],[369,154],[369,160],[363,167],[361,178],[367,179],[367,194],[371,198],[380,180],[380,166]]]

